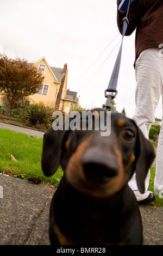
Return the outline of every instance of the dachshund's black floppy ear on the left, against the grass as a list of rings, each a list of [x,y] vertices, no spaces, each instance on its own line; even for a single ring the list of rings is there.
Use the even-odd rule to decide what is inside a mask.
[[[51,127],[43,137],[42,170],[46,176],[54,174],[60,164],[65,132],[65,130],[54,131]]]

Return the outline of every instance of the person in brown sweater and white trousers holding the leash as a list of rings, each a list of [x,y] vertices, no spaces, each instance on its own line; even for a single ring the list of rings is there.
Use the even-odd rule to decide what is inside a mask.
[[[121,1],[117,1],[117,26],[122,34],[123,18],[126,13],[118,10]],[[133,0],[128,11],[129,25],[126,35],[131,35],[135,29],[135,76],[136,109],[133,119],[137,126],[148,138],[149,130],[154,121],[155,109],[162,95],[163,113],[163,1],[162,0]],[[154,193],[148,191],[150,171],[145,181],[145,193],[141,194],[136,184],[136,174],[129,181],[137,201],[152,202]],[[163,115],[156,155],[154,192],[163,192]],[[162,193],[161,192],[161,193]]]

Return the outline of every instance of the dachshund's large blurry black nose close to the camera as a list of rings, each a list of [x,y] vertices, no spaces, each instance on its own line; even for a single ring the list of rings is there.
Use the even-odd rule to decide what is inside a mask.
[[[84,154],[82,166],[86,179],[106,183],[118,172],[118,163],[114,156],[97,153],[94,150]]]

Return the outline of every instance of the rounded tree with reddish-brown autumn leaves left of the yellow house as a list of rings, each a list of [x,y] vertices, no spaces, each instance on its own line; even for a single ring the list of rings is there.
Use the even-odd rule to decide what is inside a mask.
[[[20,58],[0,58],[0,93],[7,96],[8,111],[24,96],[37,93],[43,82],[43,76],[33,64]]]

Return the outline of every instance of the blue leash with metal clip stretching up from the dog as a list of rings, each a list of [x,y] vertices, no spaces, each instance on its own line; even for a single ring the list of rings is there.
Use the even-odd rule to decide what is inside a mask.
[[[129,6],[130,6],[131,2],[132,2],[132,0],[123,0],[118,9],[120,11],[124,12],[125,8],[127,7],[127,15],[128,15],[128,10],[129,10]],[[124,4],[125,4],[125,6],[124,6]],[[107,98],[107,100],[106,100],[105,105],[103,105],[103,107],[104,108],[110,108],[110,110],[112,112],[115,112],[115,107],[111,104],[111,100],[114,99],[116,97],[117,93],[118,93],[116,88],[117,88],[118,75],[119,75],[120,64],[121,64],[123,38],[124,38],[124,35],[126,34],[127,26],[129,24],[129,21],[127,19],[127,15],[122,20],[123,21],[122,42],[121,42],[120,50],[119,50],[117,58],[116,58],[114,69],[113,69],[112,74],[111,74],[111,78],[110,78],[110,81],[109,81],[108,88],[105,90],[105,97]],[[110,92],[110,94],[107,94],[107,92]],[[115,93],[115,94],[113,94],[113,93]]]

